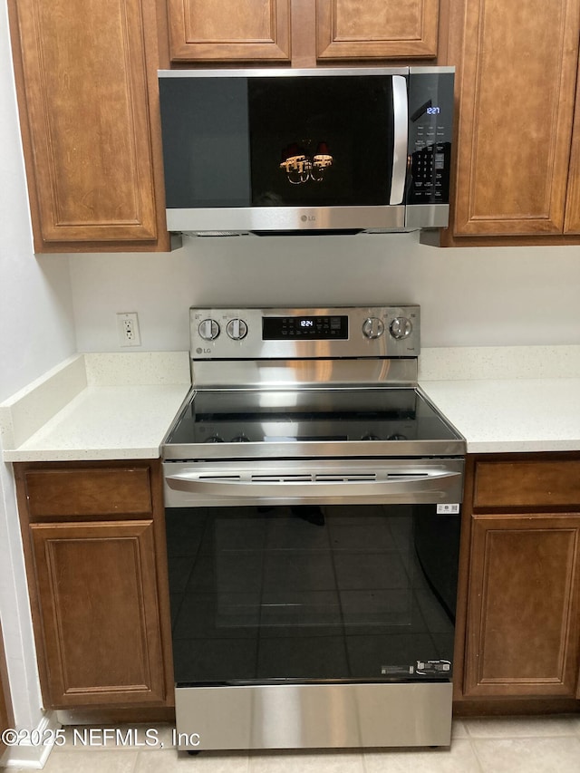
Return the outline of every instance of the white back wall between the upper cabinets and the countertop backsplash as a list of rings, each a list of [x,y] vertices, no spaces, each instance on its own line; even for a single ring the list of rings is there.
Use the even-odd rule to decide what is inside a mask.
[[[421,306],[423,346],[580,343],[580,246],[437,249],[416,234],[186,237],[169,255],[73,256],[80,351],[189,349],[194,304]]]

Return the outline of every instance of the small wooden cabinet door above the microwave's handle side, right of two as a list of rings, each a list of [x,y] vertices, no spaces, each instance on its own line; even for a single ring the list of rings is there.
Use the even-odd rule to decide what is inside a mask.
[[[439,0],[316,0],[316,56],[393,59],[437,55]]]

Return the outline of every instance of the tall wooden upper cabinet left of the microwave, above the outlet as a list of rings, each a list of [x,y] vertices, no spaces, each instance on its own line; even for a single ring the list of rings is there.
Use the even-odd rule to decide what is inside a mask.
[[[10,0],[10,12],[36,251],[169,248],[151,0]]]

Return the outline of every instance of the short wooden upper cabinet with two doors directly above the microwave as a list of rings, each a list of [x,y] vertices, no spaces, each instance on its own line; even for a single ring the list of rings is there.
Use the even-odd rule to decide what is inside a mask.
[[[172,62],[291,63],[437,55],[440,0],[167,0]]]

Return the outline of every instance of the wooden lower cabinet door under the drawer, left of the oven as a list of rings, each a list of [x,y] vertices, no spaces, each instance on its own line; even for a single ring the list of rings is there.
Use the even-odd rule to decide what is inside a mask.
[[[163,701],[153,522],[30,533],[51,707]]]

